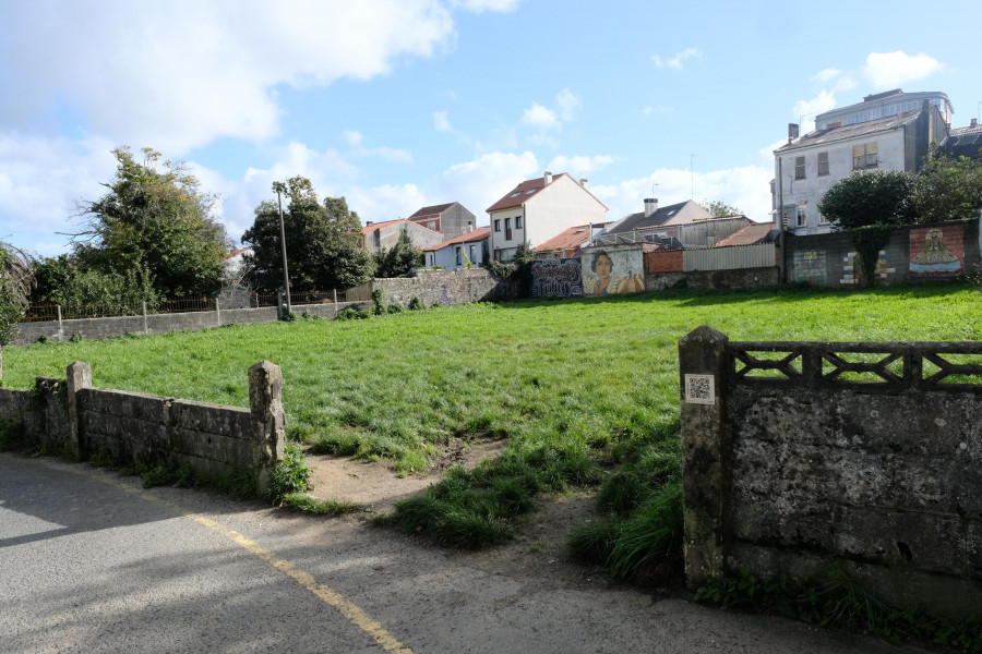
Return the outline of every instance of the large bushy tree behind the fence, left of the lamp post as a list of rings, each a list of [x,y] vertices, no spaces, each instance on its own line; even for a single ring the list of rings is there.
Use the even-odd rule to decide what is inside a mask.
[[[148,272],[163,296],[215,293],[229,250],[212,216],[216,196],[201,190],[183,162],[160,162],[151,148],[143,148],[142,164],[129,147],[112,154],[119,165],[103,184],[108,193],[80,205],[85,227],[74,234],[77,265],[105,275]]]

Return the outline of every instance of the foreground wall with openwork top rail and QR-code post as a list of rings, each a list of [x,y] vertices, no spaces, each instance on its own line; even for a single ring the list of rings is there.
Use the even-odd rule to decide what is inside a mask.
[[[982,343],[679,342],[685,572],[982,614]]]

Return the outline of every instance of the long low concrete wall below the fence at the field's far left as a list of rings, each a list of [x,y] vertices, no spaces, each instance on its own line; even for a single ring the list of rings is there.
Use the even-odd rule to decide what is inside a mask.
[[[310,314],[322,318],[333,318],[337,312],[348,307],[366,308],[364,303],[338,302],[337,304],[300,304],[294,305],[297,315]],[[219,307],[215,311],[203,311],[178,314],[148,314],[146,316],[120,316],[112,318],[83,318],[73,320],[46,320],[43,323],[21,323],[20,332],[14,344],[26,346],[43,336],[52,341],[64,341],[77,335],[82,338],[97,340],[128,334],[167,334],[168,331],[188,331],[207,329],[224,325],[254,325],[275,323],[276,307],[230,308]]]

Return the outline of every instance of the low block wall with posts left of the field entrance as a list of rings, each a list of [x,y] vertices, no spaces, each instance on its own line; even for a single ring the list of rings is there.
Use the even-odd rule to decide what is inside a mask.
[[[83,460],[101,452],[122,464],[176,464],[205,477],[249,469],[265,494],[283,461],[282,396],[283,373],[268,361],[249,368],[249,409],[93,388],[92,368],[76,361],[65,379],[0,388],[0,421],[19,423],[28,446]]]

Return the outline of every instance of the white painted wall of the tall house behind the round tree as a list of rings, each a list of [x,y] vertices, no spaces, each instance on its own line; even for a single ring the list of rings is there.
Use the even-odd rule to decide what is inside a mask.
[[[791,211],[788,222],[791,231],[798,235],[831,231],[831,225],[819,223],[818,221],[818,202],[839,180],[852,174],[852,147],[873,142],[876,143],[877,148],[878,170],[903,170],[902,129],[814,145],[781,155],[785,205],[805,205],[807,211],[807,225],[805,227],[797,227],[794,211]],[[828,153],[828,174],[818,177],[818,153],[825,152]],[[805,158],[805,179],[795,180],[794,160],[801,156]],[[774,174],[775,179],[777,179],[777,157],[775,157]],[[775,193],[777,192],[778,187],[775,184]],[[777,203],[780,203],[780,198],[777,199]]]

